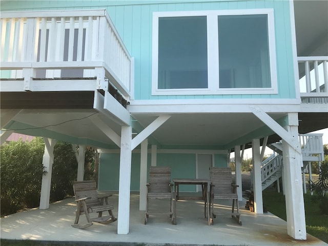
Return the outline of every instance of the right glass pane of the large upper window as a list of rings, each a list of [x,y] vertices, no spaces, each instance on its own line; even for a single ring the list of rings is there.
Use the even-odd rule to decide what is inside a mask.
[[[219,87],[271,88],[268,16],[218,16]]]

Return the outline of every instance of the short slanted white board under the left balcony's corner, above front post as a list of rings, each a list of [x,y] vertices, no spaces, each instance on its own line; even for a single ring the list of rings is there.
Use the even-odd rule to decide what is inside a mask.
[[[105,91],[104,110],[130,126],[130,113],[108,91]]]

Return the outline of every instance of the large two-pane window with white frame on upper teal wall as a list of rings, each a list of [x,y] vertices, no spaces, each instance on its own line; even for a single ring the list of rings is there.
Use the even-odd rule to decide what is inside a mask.
[[[152,94],[277,93],[273,10],[156,12]]]

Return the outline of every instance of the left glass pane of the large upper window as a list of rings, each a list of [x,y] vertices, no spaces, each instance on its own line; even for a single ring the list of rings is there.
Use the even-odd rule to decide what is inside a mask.
[[[206,16],[158,20],[158,89],[208,88]]]

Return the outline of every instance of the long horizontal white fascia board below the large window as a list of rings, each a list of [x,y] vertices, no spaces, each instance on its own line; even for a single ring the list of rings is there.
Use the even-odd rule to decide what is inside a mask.
[[[247,113],[250,105],[265,112],[300,112],[299,99],[131,100],[130,113]]]

